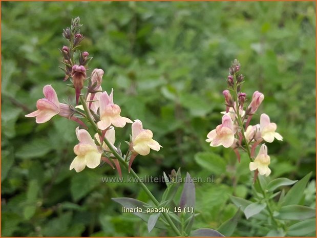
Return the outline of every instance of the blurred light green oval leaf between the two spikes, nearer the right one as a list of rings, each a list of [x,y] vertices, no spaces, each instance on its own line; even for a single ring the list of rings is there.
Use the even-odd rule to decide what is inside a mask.
[[[195,161],[204,169],[208,169],[217,175],[222,175],[226,171],[224,159],[214,153],[199,152],[195,155]]]

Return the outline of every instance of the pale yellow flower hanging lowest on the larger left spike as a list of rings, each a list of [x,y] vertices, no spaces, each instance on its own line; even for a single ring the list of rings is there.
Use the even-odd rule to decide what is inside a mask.
[[[74,153],[77,155],[70,165],[70,170],[75,168],[76,172],[82,171],[86,166],[95,168],[100,164],[101,154],[97,145],[85,129],[76,128],[79,144],[75,145]]]

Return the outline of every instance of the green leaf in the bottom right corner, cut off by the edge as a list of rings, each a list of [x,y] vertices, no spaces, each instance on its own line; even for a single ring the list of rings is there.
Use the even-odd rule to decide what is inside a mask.
[[[287,235],[288,236],[305,236],[314,231],[316,231],[315,218],[301,221],[291,225],[287,229]]]

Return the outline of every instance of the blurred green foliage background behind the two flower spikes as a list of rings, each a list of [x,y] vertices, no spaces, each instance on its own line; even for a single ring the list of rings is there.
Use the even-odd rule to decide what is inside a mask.
[[[82,50],[94,57],[90,68],[105,71],[102,87],[114,88],[123,116],[143,121],[164,147],[137,157],[141,177],[181,167],[196,184],[195,228],[216,229],[236,206],[229,194],[248,199],[248,160],[237,163],[230,149],[212,148],[206,134],[220,124],[222,90],[230,62],[241,63],[244,91],[265,100],[253,117],[267,113],[284,141],[268,144],[270,177],[315,177],[315,4],[313,2],[3,2],[2,3],[2,235],[143,236],[146,224],[122,214],[112,197],[147,202],[137,184],[102,183],[117,177],[102,166],[69,170],[77,143],[74,122],[55,116],[36,124],[42,89],[52,84],[60,101],[74,102],[62,82],[63,28],[79,16],[86,39]],[[117,129],[128,140],[129,126]],[[122,144],[121,149],[124,151]],[[124,173],[124,176],[126,174]],[[148,184],[159,197],[164,184]],[[288,188],[286,187],[286,190]],[[314,206],[315,182],[302,204]],[[237,236],[268,232],[239,220]],[[150,235],[168,235],[154,229]]]

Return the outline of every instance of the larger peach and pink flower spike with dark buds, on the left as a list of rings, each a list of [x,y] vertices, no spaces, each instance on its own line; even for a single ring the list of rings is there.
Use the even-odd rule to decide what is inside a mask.
[[[69,46],[64,46],[60,50],[63,57],[62,63],[65,65],[65,68],[61,68],[65,73],[64,81],[70,79],[71,84],[68,86],[75,89],[76,106],[60,103],[53,87],[46,85],[43,89],[45,98],[39,99],[36,103],[37,110],[26,117],[36,117],[37,123],[45,123],[53,116],[59,115],[77,122],[83,128],[76,128],[79,143],[74,147],[76,157],[70,169],[74,168],[80,172],[86,166],[96,168],[103,161],[112,168],[116,167],[121,176],[119,161],[114,156],[114,153],[122,155],[120,148],[114,145],[115,127],[124,127],[126,123],[132,123],[129,150],[124,156],[125,161],[129,162],[129,171],[137,155],[148,155],[150,149],[158,151],[162,146],[152,139],[153,133],[149,129],[143,129],[140,120],[133,122],[120,115],[120,106],[113,100],[113,89],[110,94],[102,91],[101,83],[104,74],[102,69],[94,69],[90,77],[87,77],[87,63],[92,58],[88,57],[88,52],[77,50],[84,38],[80,34],[80,27],[77,17],[72,20],[70,28],[64,29],[63,36],[69,41]],[[77,52],[79,52],[78,57],[76,57]],[[81,105],[78,105],[79,101]],[[82,119],[87,119],[95,126],[97,133],[93,138],[86,130],[88,126],[84,121],[87,120]]]

